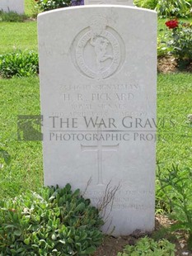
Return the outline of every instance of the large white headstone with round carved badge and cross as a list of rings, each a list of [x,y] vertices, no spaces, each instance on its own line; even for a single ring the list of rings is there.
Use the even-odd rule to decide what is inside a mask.
[[[119,187],[103,230],[152,230],[157,13],[68,7],[38,25],[44,184],[71,183],[95,205]]]

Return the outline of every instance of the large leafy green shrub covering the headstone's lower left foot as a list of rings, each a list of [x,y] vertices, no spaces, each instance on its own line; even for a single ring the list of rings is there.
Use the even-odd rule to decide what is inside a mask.
[[[90,255],[101,244],[103,220],[68,184],[26,192],[0,208],[2,255]]]

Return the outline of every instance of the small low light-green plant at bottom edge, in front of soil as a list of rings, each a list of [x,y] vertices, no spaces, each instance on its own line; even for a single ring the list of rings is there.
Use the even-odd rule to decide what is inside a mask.
[[[162,239],[158,242],[145,236],[139,239],[135,245],[126,245],[123,253],[117,256],[174,256],[175,244]]]

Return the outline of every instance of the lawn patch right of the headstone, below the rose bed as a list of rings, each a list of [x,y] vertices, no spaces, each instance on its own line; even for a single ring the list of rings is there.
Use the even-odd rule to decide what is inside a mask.
[[[157,84],[157,118],[160,123],[160,140],[157,143],[157,160],[171,164],[192,166],[192,127],[187,116],[192,113],[192,74],[159,74]]]

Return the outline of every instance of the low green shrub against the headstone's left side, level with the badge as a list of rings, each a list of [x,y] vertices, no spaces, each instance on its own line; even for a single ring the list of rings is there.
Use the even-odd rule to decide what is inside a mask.
[[[38,54],[34,51],[16,51],[0,55],[2,78],[29,77],[39,71]]]

